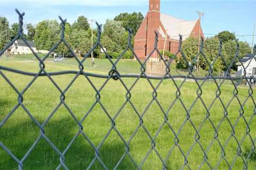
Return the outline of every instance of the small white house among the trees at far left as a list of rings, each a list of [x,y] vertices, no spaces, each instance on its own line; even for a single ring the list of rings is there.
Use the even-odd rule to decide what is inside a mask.
[[[36,46],[33,41],[27,41],[29,46],[36,52]],[[32,54],[31,50],[24,43],[23,40],[17,39],[14,41],[13,45],[10,47],[11,54]]]

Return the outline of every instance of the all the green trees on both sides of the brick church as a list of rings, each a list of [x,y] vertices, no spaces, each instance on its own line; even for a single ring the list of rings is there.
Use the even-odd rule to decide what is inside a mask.
[[[119,56],[119,54],[127,47],[127,29],[131,28],[135,35],[142,21],[143,15],[140,12],[133,12],[130,14],[121,13],[113,20],[106,21],[102,28],[101,44],[106,48],[110,57],[117,58]],[[0,49],[17,35],[18,27],[18,23],[9,25],[7,19],[0,16]],[[26,34],[23,33],[23,35],[27,40],[35,41],[37,49],[51,50],[51,48],[60,40],[61,26],[57,20],[44,20],[37,23],[36,26],[29,23],[25,25],[25,29]],[[95,44],[97,29],[92,31],[88,19],[85,16],[78,16],[77,20],[72,24],[68,22],[66,23],[65,39],[74,52],[84,56],[91,49],[91,32],[93,32],[93,44]],[[205,39],[204,52],[210,62],[212,62],[218,55],[219,40],[222,41],[222,55],[226,59],[227,64],[230,64],[235,57],[237,43],[240,48],[240,57],[250,53],[251,48],[248,43],[236,39],[235,33],[222,31],[215,37]],[[187,38],[182,43],[182,50],[186,54],[188,61],[193,61],[198,53],[198,40],[193,37]],[[63,43],[58,46],[55,52],[63,56],[70,55],[68,48]],[[104,57],[104,54],[100,52],[99,47],[97,47],[93,53],[95,57]],[[124,58],[130,58],[131,56],[131,52],[127,52],[124,55]],[[179,57],[177,63],[178,67],[185,69],[188,67],[182,57]],[[207,69],[207,67],[209,67],[202,56],[199,60],[199,66],[202,69]],[[213,69],[217,72],[225,70],[225,63],[218,59],[215,61]]]

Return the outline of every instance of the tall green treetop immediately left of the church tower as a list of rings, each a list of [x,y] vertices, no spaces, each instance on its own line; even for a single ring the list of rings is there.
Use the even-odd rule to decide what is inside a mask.
[[[141,14],[141,12],[133,12],[133,13],[120,13],[117,15],[114,20],[115,21],[121,21],[123,27],[127,30],[128,28],[131,28],[133,30],[133,33],[137,33],[142,21],[144,19],[144,16]]]

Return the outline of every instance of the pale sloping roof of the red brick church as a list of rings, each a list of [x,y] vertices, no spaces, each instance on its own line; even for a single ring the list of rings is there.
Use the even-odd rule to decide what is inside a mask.
[[[179,35],[183,36],[183,40],[187,39],[191,35],[191,32],[193,31],[197,22],[197,20],[186,21],[162,13],[160,15],[160,21],[167,30],[167,34],[170,36],[170,38],[177,40],[179,40]]]

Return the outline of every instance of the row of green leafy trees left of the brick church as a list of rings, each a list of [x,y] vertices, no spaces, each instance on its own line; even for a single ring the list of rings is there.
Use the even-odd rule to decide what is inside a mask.
[[[133,12],[121,13],[114,20],[106,21],[102,28],[101,42],[110,56],[117,57],[117,54],[125,49],[128,38],[127,29],[131,28],[134,33],[137,32],[142,20],[143,15],[140,12]],[[6,18],[0,17],[0,49],[18,34],[18,28],[18,23],[9,25]],[[61,27],[57,20],[44,20],[35,26],[29,23],[22,31],[26,32],[23,36],[27,40],[35,41],[37,49],[50,50],[60,39]],[[91,32],[88,19],[85,16],[78,16],[72,24],[66,23],[65,39],[75,52],[84,55],[91,49]],[[93,37],[93,43],[95,43],[97,29],[93,30]],[[63,44],[60,44],[56,52],[65,56],[70,55]],[[100,55],[99,48],[94,50],[94,55],[96,57]]]

